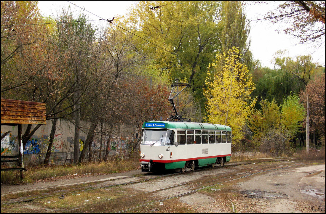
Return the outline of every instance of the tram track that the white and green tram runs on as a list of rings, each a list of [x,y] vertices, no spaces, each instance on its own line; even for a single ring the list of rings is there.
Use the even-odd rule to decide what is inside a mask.
[[[274,161],[288,161],[288,160],[292,160],[292,159],[293,158],[286,158],[286,159],[267,159],[267,160],[264,159],[264,160],[259,160],[259,161],[254,161],[254,162],[247,162],[247,163],[244,163],[244,162],[241,162],[241,163],[232,163],[232,164],[227,164],[225,166],[237,166],[237,165],[242,165],[242,164],[264,163],[264,162],[274,162]],[[215,168],[220,168],[220,167],[223,167],[223,166],[215,166]],[[207,167],[195,169],[194,171],[201,171],[201,170],[206,170],[206,169],[207,169]],[[33,201],[33,200],[37,200],[37,199],[43,199],[43,198],[52,197],[52,196],[68,195],[68,194],[74,194],[74,193],[78,193],[78,192],[90,191],[90,190],[101,189],[101,188],[111,188],[111,187],[115,187],[115,186],[136,184],[136,183],[141,183],[141,182],[144,182],[144,181],[154,180],[154,179],[157,179],[157,178],[163,178],[163,177],[167,177],[167,176],[175,176],[175,175],[190,173],[190,172],[194,172],[194,171],[187,170],[184,173],[177,172],[177,173],[160,175],[160,176],[156,176],[156,177],[152,177],[152,178],[145,178],[145,179],[138,180],[138,181],[131,181],[131,182],[125,182],[125,183],[117,183],[117,184],[112,184],[112,185],[107,185],[107,186],[100,186],[100,187],[94,187],[94,188],[88,188],[88,189],[78,190],[78,191],[73,191],[73,192],[58,193],[58,194],[41,196],[41,197],[35,197],[35,198],[29,198],[29,199],[23,199],[23,200],[16,200],[16,201],[11,201],[11,202],[1,203],[1,205],[22,203],[22,202],[29,202],[29,201]],[[149,174],[150,173],[145,174],[145,176],[147,176]],[[124,177],[124,178],[131,178],[131,177]],[[124,178],[120,178],[120,179],[124,179]],[[118,180],[118,179],[115,179],[115,180]],[[115,181],[115,180],[111,180],[111,181]],[[192,181],[190,181],[190,182],[192,182]],[[166,189],[170,189],[170,188],[173,188],[173,187],[176,187],[176,186],[186,185],[186,184],[188,184],[190,182],[185,182],[185,183],[182,183],[182,184],[178,184],[178,185],[174,185],[174,186],[170,186],[170,187],[158,189],[158,190],[155,190],[155,191],[166,190]],[[73,185],[71,185],[71,186],[73,186]],[[71,186],[69,186],[69,187],[71,187]],[[51,189],[53,190],[53,188],[51,188]],[[31,191],[31,190],[29,190],[29,191]],[[146,193],[151,193],[151,192],[155,192],[155,191],[148,191]],[[173,196],[173,197],[177,197],[177,196]],[[167,199],[164,199],[164,200],[167,200]],[[142,205],[142,206],[144,206],[144,205]]]

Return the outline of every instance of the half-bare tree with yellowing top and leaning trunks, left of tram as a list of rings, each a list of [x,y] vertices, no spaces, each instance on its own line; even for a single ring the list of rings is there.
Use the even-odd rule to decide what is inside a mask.
[[[122,20],[119,26],[124,25]],[[126,90],[130,84],[137,84],[133,80],[138,69],[145,64],[144,55],[137,52],[134,36],[124,29],[114,25],[105,29],[103,34],[103,44],[101,44],[100,56],[102,60],[98,64],[98,76],[100,80],[96,89],[89,92],[90,97],[94,99],[90,102],[88,114],[84,118],[91,121],[87,133],[87,139],[84,149],[79,158],[79,162],[85,160],[85,154],[88,146],[92,143],[92,136],[99,122],[106,122],[110,127],[126,121]],[[108,140],[111,140],[111,128],[108,130]],[[109,143],[104,160],[107,160],[109,154]]]

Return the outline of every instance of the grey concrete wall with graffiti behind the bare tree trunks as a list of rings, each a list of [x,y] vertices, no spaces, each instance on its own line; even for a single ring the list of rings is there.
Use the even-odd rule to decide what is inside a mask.
[[[41,127],[34,133],[34,135],[28,140],[24,148],[24,165],[34,165],[43,163],[45,154],[49,145],[49,136],[52,128],[52,121],[46,121],[46,125],[41,125]],[[32,125],[32,129],[36,125]],[[86,140],[89,124],[87,122],[81,122],[83,127],[80,132],[80,149],[81,153],[84,142]],[[27,125],[22,125],[22,134],[24,134]],[[109,126],[103,124],[103,129],[109,131]],[[7,131],[11,131],[7,137],[1,141],[1,155],[17,155],[19,154],[18,150],[18,127],[17,126],[1,126],[1,135]],[[129,154],[129,144],[134,139],[134,130],[135,127],[130,127],[128,125],[118,125],[112,129],[111,144],[109,145],[111,156],[125,156]],[[100,153],[100,126],[96,128],[96,134],[93,139],[91,150],[93,154],[93,159],[99,159]],[[106,144],[108,140],[108,134],[102,135],[102,157],[105,155]],[[86,148],[88,150],[88,148]],[[50,157],[50,164],[71,164],[73,163],[74,157],[74,125],[67,120],[58,120],[57,129],[54,135],[54,140],[52,144],[52,153]],[[88,158],[88,152],[86,153],[86,159]]]

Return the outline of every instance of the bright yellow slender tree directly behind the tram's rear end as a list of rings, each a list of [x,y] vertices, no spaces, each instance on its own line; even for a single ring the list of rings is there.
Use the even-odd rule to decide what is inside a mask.
[[[208,88],[204,89],[206,120],[230,126],[234,143],[244,138],[244,126],[257,99],[250,97],[255,85],[247,66],[239,59],[239,50],[235,47],[227,53],[216,54],[207,71]]]

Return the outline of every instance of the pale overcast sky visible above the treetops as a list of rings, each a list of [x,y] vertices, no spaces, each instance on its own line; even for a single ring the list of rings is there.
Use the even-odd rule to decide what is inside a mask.
[[[102,17],[104,19],[110,19],[114,16],[125,15],[126,9],[133,2],[136,1],[69,1],[76,4],[79,7],[85,8],[87,11]],[[75,10],[76,12],[81,10],[79,7],[67,1],[39,1],[38,8],[45,16],[56,16],[56,11],[60,11],[62,7],[68,7]],[[271,1],[270,1],[271,2]],[[270,2],[268,2],[270,4]],[[272,2],[273,3],[273,2]],[[178,3],[175,3],[178,4]],[[154,5],[152,5],[154,6]],[[255,17],[261,17],[267,10],[272,10],[276,6],[270,4],[268,6],[262,5],[250,5],[246,7],[247,19],[254,20]],[[259,13],[257,13],[259,11]],[[97,16],[92,15],[84,11],[84,14],[89,15],[89,20],[98,20]],[[77,14],[77,13],[75,13]],[[260,16],[259,16],[260,15]],[[102,21],[103,22],[103,21]],[[109,24],[109,23],[107,23]],[[298,40],[287,36],[284,33],[277,33],[276,29],[280,24],[270,24],[268,21],[251,21],[251,51],[254,59],[259,59],[262,66],[268,66],[274,68],[274,64],[271,63],[273,55],[278,50],[288,50],[287,55],[295,59],[298,55],[309,55],[311,54],[314,62],[318,62],[322,66],[325,66],[325,45],[319,50],[311,48],[310,45],[297,45]]]

